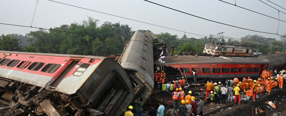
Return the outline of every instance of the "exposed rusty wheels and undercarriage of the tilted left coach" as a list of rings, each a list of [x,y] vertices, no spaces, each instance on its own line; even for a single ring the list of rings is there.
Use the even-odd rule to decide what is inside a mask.
[[[87,110],[76,95],[67,95],[27,83],[0,78],[2,98],[11,100],[11,108],[22,109],[29,114],[83,115]],[[81,104],[79,106],[78,104]],[[80,107],[80,108],[79,108]],[[59,114],[61,113],[61,114]]]

